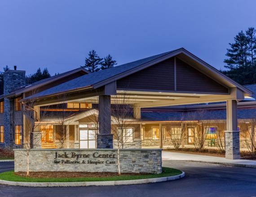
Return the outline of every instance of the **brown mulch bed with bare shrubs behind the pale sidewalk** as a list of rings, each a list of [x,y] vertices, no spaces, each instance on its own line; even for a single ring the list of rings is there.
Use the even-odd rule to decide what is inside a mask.
[[[199,154],[199,155],[208,155],[215,157],[225,157],[225,152],[221,152],[216,149],[203,149],[201,151],[196,150],[195,148],[180,148],[176,149],[167,149],[165,151],[176,152],[176,153],[187,153],[187,154]],[[248,151],[240,151],[241,159],[256,160],[256,154],[252,154]]]

